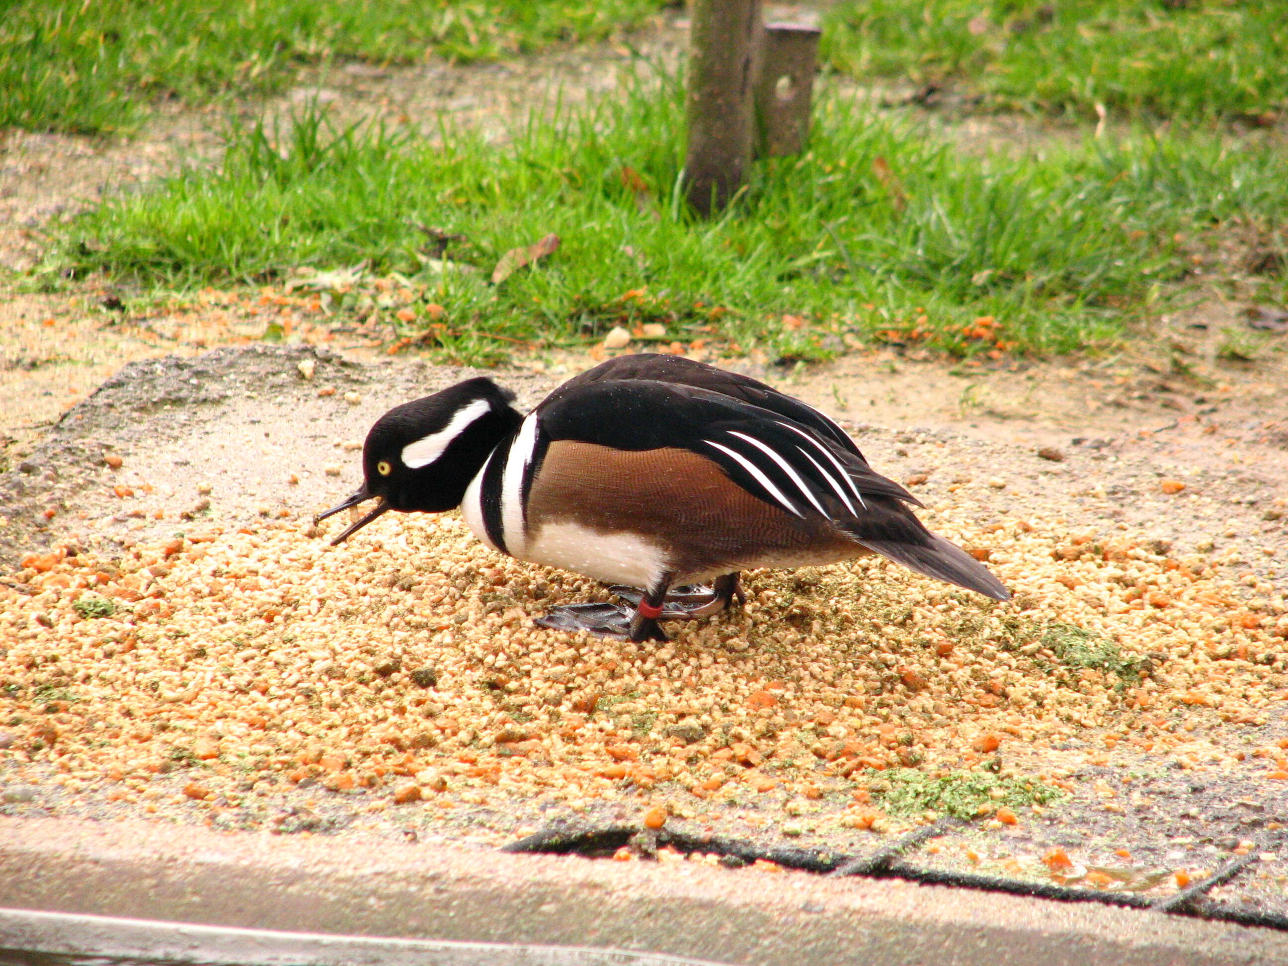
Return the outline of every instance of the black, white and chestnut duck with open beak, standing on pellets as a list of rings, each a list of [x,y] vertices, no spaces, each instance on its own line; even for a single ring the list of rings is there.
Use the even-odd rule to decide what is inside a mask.
[[[988,568],[935,536],[921,502],[868,466],[818,410],[679,355],[621,355],[527,416],[491,379],[397,406],[367,434],[363,486],[322,520],[379,498],[332,545],[388,510],[461,507],[493,550],[614,586],[613,604],[555,608],[547,627],[666,640],[658,621],[743,600],[738,572],[871,553],[994,600]],[[712,581],[703,591],[698,585]],[[638,587],[638,591],[632,591]],[[675,589],[675,594],[671,594]]]

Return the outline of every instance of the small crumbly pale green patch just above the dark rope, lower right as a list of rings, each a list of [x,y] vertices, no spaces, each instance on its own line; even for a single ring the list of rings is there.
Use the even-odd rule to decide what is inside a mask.
[[[1002,778],[987,770],[931,775],[912,768],[895,768],[866,774],[881,808],[895,815],[939,811],[971,819],[1002,805],[1014,810],[1050,805],[1065,796],[1036,778]]]

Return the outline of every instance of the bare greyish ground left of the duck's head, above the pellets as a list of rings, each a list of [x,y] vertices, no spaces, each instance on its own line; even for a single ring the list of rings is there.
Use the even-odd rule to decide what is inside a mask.
[[[312,379],[299,370],[305,359]],[[13,562],[66,540],[88,549],[157,540],[202,501],[202,520],[238,526],[316,513],[353,488],[328,469],[352,461],[381,412],[461,374],[403,359],[363,365],[307,345],[130,363],[0,477],[0,553]],[[514,381],[522,389],[532,377]]]

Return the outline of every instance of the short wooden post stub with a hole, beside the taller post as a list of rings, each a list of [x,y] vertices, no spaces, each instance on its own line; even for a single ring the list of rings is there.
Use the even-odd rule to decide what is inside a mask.
[[[757,153],[762,156],[796,155],[805,149],[819,33],[817,27],[795,23],[765,24],[764,54],[756,80]]]

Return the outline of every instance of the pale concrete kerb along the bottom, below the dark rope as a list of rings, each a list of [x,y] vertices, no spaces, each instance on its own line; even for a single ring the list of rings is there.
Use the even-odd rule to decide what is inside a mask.
[[[1216,966],[1288,935],[900,881],[0,818],[0,907],[728,963]],[[23,935],[0,917],[5,943]],[[198,938],[200,942],[200,938]]]

